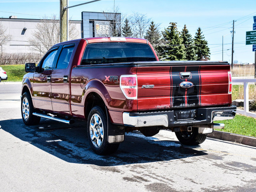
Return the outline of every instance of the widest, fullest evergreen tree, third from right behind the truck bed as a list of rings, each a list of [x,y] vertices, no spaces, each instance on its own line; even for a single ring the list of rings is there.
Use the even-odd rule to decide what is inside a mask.
[[[182,38],[177,29],[177,23],[170,23],[170,26],[162,32],[163,41],[166,46],[162,46],[162,59],[165,60],[184,60],[185,47],[182,45]]]

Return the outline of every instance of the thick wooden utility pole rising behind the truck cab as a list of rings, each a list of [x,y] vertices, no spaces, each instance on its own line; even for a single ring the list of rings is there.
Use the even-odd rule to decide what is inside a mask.
[[[67,11],[66,0],[60,0],[60,42],[67,40]]]

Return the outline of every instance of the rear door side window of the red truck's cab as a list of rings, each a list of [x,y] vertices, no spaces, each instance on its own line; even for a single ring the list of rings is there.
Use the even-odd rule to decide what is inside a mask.
[[[75,44],[63,46],[57,62],[57,69],[66,69],[68,67],[74,46]]]

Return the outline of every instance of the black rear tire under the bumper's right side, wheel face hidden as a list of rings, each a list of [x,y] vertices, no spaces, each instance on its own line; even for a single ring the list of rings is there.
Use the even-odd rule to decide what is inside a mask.
[[[178,140],[184,145],[199,145],[206,140],[207,134],[199,134],[197,127],[192,127],[192,131],[175,132]]]

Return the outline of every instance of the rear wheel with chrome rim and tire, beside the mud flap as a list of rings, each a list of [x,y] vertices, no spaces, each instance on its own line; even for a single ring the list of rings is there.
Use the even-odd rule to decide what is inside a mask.
[[[89,113],[87,135],[90,146],[96,154],[111,154],[118,149],[119,144],[109,144],[107,141],[107,118],[104,111],[99,106],[93,107]]]

